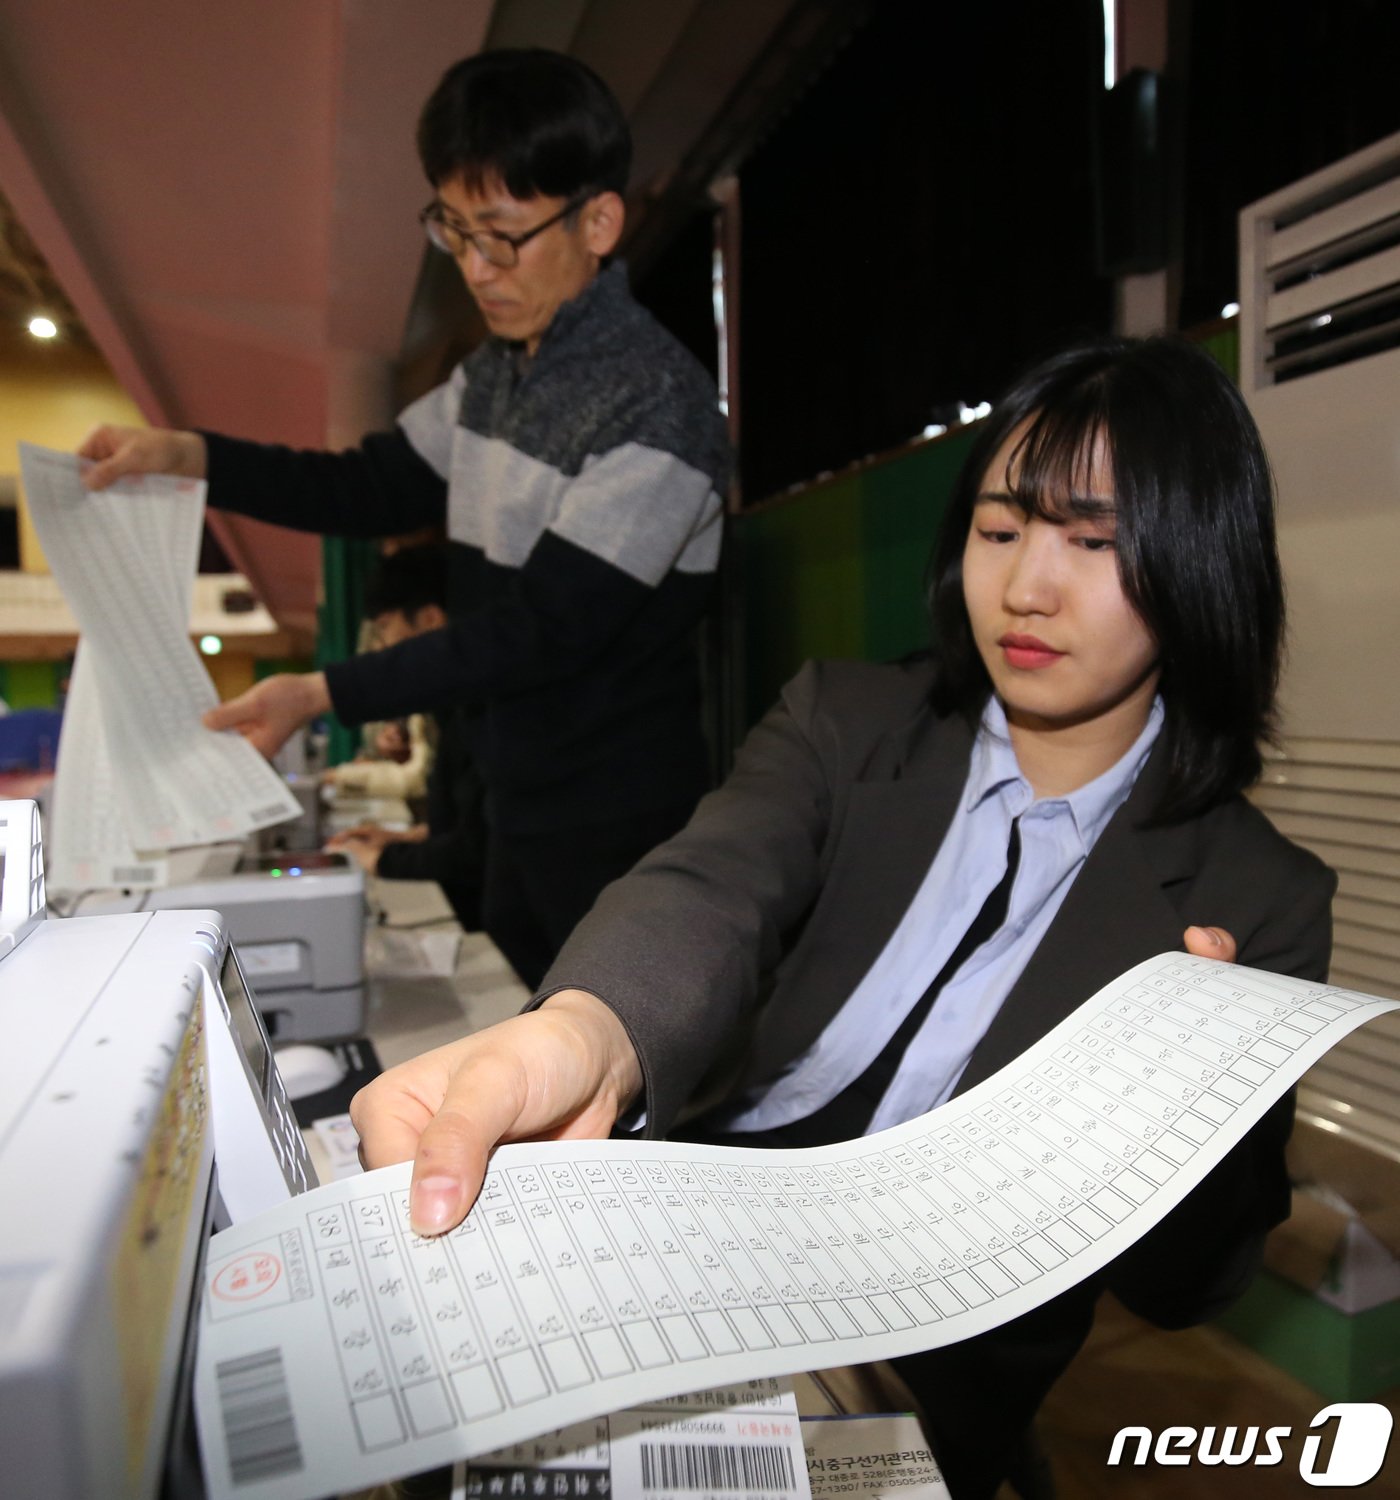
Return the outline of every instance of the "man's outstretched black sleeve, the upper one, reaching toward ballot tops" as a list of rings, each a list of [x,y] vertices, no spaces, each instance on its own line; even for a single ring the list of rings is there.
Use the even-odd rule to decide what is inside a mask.
[[[414,402],[393,432],[344,453],[243,442],[204,432],[218,510],[330,537],[392,537],[443,524],[462,372]]]

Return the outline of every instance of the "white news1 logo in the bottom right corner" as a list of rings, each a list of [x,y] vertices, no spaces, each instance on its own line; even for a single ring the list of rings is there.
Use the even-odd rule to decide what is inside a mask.
[[[1320,1456],[1326,1428],[1335,1424],[1331,1452]],[[1380,1473],[1389,1448],[1394,1419],[1388,1407],[1373,1401],[1337,1401],[1323,1407],[1308,1424],[1298,1473],[1319,1490],[1355,1490]],[[1290,1426],[1164,1426],[1152,1434],[1146,1426],[1124,1426],[1113,1434],[1109,1466],[1142,1466],[1151,1455],[1158,1464],[1257,1464],[1283,1462],[1283,1444]],[[1136,1448],[1133,1446],[1136,1444]],[[1319,1467],[1320,1464],[1320,1467]]]

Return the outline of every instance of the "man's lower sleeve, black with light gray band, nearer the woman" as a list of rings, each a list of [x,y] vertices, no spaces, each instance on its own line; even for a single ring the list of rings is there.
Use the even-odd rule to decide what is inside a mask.
[[[590,459],[500,597],[444,630],[327,669],[336,712],[360,723],[567,681],[659,590],[704,590],[720,528],[710,472],[639,442]]]

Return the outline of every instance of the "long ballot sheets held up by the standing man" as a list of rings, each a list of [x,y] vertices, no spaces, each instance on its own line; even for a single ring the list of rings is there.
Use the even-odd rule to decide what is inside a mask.
[[[71,453],[20,444],[35,530],[83,633],[54,786],[56,890],[159,886],[168,850],[297,816],[282,778],[237,734],[189,639],[204,484],[150,474],[101,494]]]

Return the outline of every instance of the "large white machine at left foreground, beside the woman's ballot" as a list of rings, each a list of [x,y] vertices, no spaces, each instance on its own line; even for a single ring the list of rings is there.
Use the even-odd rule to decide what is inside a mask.
[[[48,920],[0,802],[0,1488],[203,1494],[189,1413],[212,1228],[315,1185],[225,920]]]

